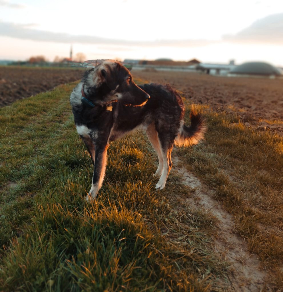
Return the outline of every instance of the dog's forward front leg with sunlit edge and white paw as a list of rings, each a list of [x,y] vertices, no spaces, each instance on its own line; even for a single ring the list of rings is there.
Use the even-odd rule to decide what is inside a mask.
[[[96,198],[103,183],[106,169],[107,147],[107,145],[96,145],[95,147],[95,164],[92,176],[92,187],[88,195],[85,197],[87,201],[93,201]]]

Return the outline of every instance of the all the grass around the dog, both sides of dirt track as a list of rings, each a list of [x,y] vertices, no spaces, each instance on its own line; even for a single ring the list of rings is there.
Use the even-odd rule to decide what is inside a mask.
[[[74,86],[0,109],[0,291],[230,291],[217,219],[178,205],[194,190],[174,173],[155,190],[157,157],[142,133],[111,144],[98,199],[85,203],[92,164],[68,102]],[[206,140],[175,154],[234,216],[279,291],[282,138],[195,107]]]

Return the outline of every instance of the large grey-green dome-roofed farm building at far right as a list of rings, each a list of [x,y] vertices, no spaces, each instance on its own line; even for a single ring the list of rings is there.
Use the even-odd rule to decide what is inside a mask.
[[[247,62],[234,67],[229,75],[282,76],[279,69],[265,62]]]

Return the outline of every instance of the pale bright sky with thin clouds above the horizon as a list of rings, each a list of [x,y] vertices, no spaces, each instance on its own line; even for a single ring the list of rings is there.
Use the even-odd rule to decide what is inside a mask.
[[[0,59],[171,58],[283,66],[283,0],[0,0]]]

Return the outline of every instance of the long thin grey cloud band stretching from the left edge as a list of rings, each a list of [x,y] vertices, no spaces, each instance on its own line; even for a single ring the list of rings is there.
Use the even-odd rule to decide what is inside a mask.
[[[217,43],[203,39],[179,39],[179,40],[156,40],[156,41],[129,41],[108,39],[89,35],[72,35],[67,33],[55,33],[31,29],[30,25],[16,25],[10,22],[0,21],[0,35],[17,39],[29,39],[33,41],[51,41],[58,43],[80,43],[96,45],[119,45],[119,46],[166,46],[166,47],[199,47]]]

